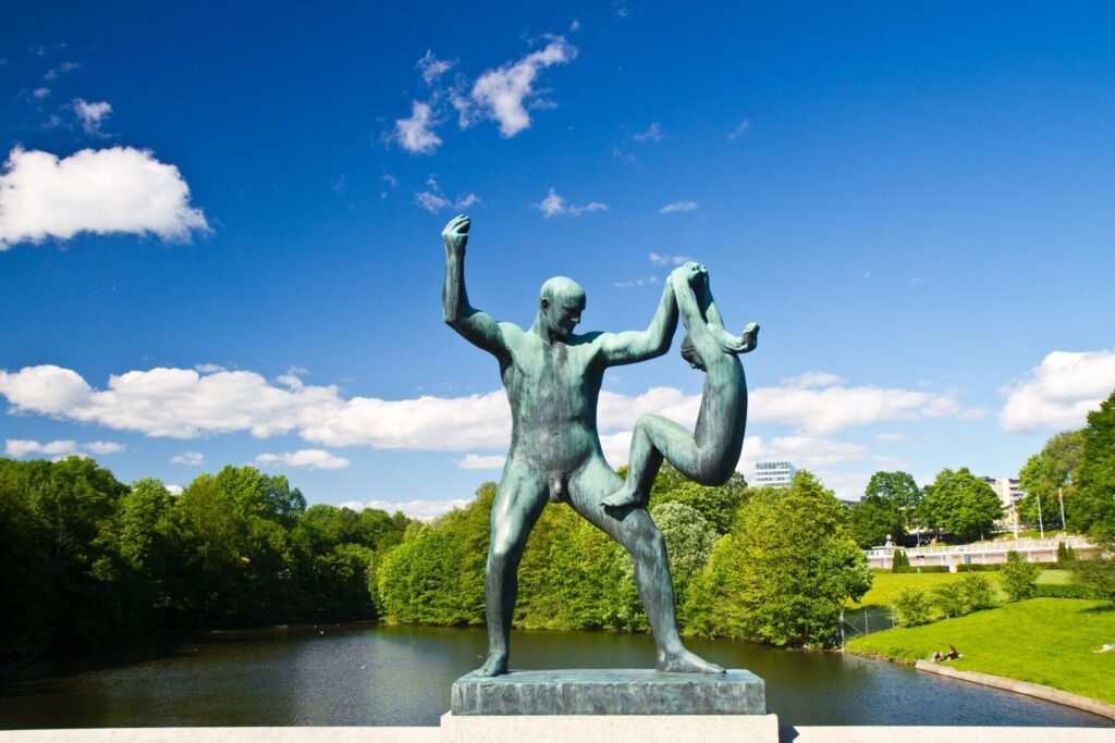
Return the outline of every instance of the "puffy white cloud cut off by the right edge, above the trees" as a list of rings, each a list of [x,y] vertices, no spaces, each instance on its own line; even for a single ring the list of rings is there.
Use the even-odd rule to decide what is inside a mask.
[[[1054,351],[1025,379],[1004,387],[999,426],[1016,433],[1065,430],[1087,422],[1115,389],[1115,351]]]

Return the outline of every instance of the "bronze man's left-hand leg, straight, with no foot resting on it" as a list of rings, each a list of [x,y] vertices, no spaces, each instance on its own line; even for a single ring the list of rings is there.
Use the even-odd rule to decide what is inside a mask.
[[[507,673],[511,618],[518,595],[518,561],[545,505],[545,480],[522,462],[508,460],[492,504],[492,538],[484,571],[488,656],[473,672],[477,676]]]

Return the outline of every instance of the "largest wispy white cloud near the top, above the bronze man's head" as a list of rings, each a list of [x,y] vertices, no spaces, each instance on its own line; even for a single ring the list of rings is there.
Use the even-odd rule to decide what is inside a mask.
[[[477,119],[492,119],[500,124],[500,134],[514,137],[531,126],[524,100],[537,95],[534,89],[539,72],[554,65],[564,65],[576,58],[576,47],[564,37],[554,37],[544,49],[531,52],[516,62],[502,65],[481,75],[469,92],[468,100],[457,98],[463,126]]]

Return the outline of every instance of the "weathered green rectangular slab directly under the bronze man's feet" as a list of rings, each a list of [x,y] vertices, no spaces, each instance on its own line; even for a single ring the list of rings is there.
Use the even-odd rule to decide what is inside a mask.
[[[453,684],[450,708],[468,715],[763,715],[766,684],[749,671],[512,671]]]

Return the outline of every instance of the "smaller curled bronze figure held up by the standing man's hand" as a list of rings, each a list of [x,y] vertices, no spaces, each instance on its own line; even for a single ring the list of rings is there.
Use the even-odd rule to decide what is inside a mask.
[[[739,462],[747,423],[747,381],[737,358],[755,349],[759,326],[750,323],[741,336],[724,329],[712,301],[708,271],[686,263],[670,274],[686,340],[681,355],[705,372],[705,391],[692,434],[661,416],[642,416],[634,426],[628,477],[623,487],[601,499],[609,508],[646,506],[662,459],[700,485],[723,485]]]

